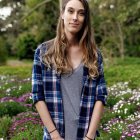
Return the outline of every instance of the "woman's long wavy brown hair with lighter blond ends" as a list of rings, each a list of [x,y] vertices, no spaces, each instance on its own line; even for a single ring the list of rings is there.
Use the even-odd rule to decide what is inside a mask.
[[[62,13],[65,11],[68,1],[70,0],[63,0],[61,9]],[[79,1],[81,1],[85,9],[83,27],[78,33],[79,46],[82,47],[82,51],[84,52],[83,64],[89,69],[89,77],[93,79],[99,75],[97,66],[97,48],[91,31],[90,9],[88,2],[87,0]],[[60,74],[72,72],[73,69],[67,55],[68,48],[69,43],[64,32],[64,23],[60,16],[54,44],[46,51],[44,57],[45,63],[50,67],[53,66]]]

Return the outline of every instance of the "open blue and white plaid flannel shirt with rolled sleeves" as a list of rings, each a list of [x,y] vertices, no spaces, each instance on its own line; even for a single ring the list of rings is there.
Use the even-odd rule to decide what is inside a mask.
[[[45,101],[57,130],[64,138],[65,121],[60,87],[61,75],[57,74],[54,69],[47,68],[40,57],[42,53],[45,53],[48,46],[50,46],[50,43],[45,42],[35,51],[32,70],[32,99],[34,104],[41,100]],[[77,140],[83,140],[88,131],[95,102],[100,100],[104,105],[106,104],[107,88],[100,52],[98,52],[98,69],[100,73],[99,77],[91,80],[88,76],[88,68],[84,66]],[[45,127],[43,139],[51,140]]]

